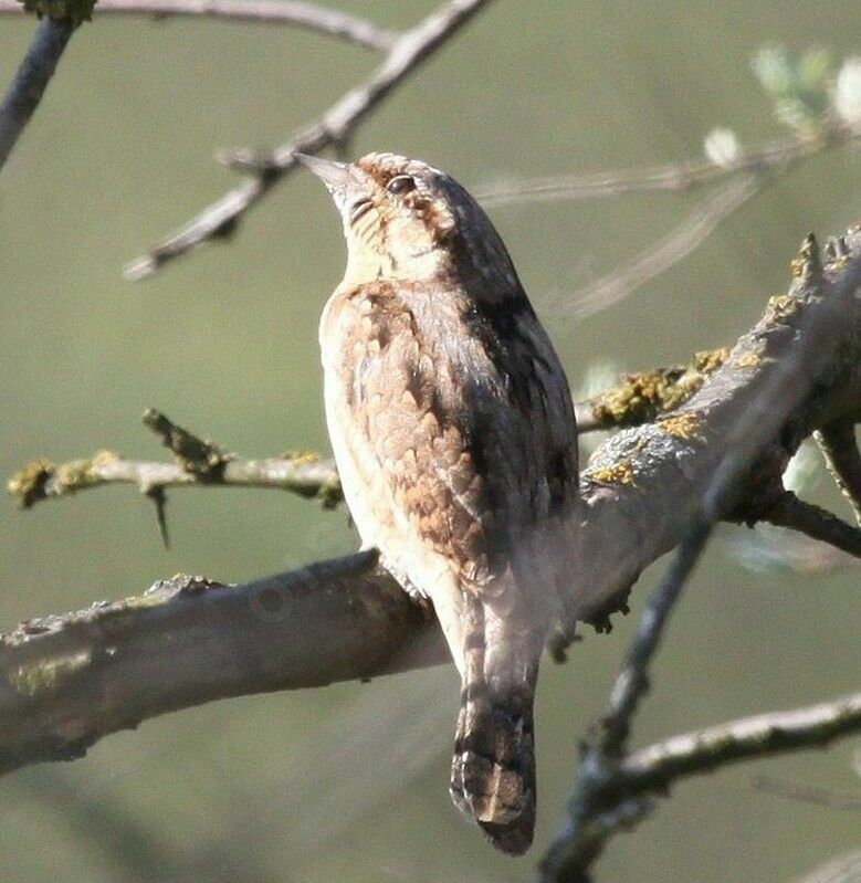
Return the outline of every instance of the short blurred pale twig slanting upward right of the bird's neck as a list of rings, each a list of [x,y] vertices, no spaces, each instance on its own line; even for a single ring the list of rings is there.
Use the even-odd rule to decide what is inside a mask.
[[[585,318],[623,301],[637,288],[665,273],[699,249],[717,225],[756,196],[762,186],[763,180],[753,174],[725,185],[697,206],[663,239],[651,244],[618,271],[566,295],[566,303],[560,312]]]

